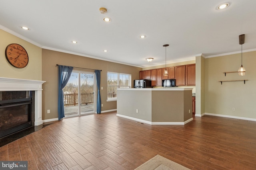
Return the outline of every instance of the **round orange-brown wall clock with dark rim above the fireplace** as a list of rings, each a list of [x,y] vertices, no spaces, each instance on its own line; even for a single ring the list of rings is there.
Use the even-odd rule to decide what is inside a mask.
[[[28,53],[19,44],[9,44],[5,49],[7,61],[16,68],[24,68],[28,64]]]

